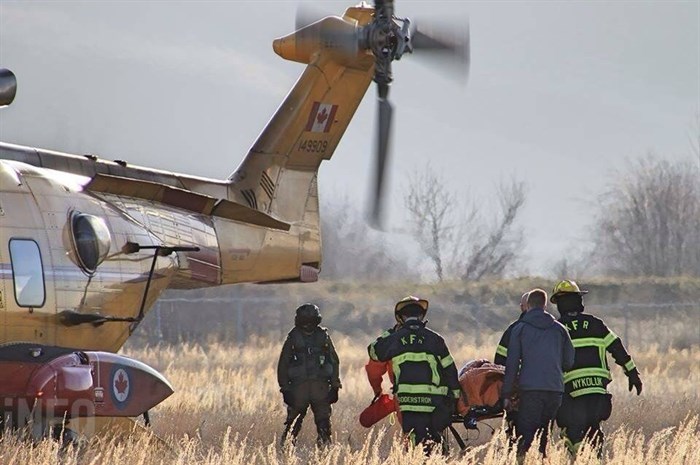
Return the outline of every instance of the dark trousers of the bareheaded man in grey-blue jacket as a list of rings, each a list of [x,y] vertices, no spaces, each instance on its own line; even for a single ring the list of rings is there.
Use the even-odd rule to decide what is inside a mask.
[[[540,453],[545,454],[547,437],[552,421],[562,402],[562,393],[555,391],[520,391],[520,404],[515,423],[518,435],[518,455],[530,449],[537,433],[540,436]]]

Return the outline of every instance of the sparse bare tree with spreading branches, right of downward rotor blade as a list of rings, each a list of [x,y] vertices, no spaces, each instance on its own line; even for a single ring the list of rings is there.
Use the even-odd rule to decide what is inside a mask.
[[[468,199],[460,202],[430,165],[409,179],[404,197],[411,232],[442,281],[446,271],[464,279],[502,276],[523,243],[516,219],[525,203],[525,185],[513,180],[498,189],[500,211],[490,223]]]

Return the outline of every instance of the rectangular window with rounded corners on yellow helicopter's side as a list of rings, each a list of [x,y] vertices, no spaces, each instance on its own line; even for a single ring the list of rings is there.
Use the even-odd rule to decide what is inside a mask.
[[[42,307],[46,289],[39,244],[30,239],[10,239],[10,262],[17,304],[20,307]]]

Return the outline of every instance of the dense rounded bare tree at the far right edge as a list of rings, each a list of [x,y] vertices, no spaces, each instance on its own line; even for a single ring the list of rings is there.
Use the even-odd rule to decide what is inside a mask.
[[[700,276],[700,166],[649,155],[602,196],[596,252],[606,271]]]

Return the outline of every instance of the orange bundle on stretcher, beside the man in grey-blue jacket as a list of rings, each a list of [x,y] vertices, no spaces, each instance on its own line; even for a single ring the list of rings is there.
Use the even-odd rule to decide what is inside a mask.
[[[505,367],[488,360],[473,360],[459,370],[462,394],[457,400],[457,412],[466,415],[469,407],[498,403],[503,387]]]

